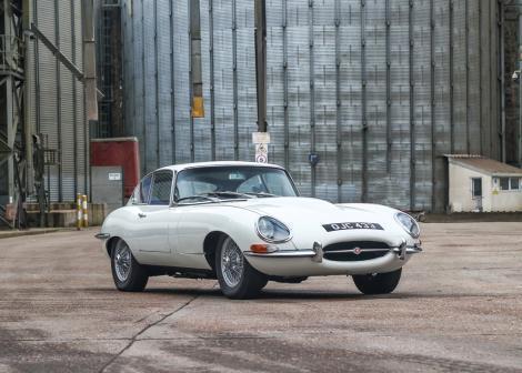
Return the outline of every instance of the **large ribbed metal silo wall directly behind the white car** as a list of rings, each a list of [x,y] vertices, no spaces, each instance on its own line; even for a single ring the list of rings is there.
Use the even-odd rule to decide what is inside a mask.
[[[252,160],[253,1],[201,0],[205,118],[193,120],[190,1],[122,3],[142,171]],[[270,161],[305,195],[443,211],[443,154],[501,157],[498,14],[490,0],[267,0]]]

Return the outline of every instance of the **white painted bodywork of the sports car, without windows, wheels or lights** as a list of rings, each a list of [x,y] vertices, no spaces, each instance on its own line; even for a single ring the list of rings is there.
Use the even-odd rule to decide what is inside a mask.
[[[173,172],[174,185],[175,175],[187,169],[241,165],[282,170],[279,165],[250,162],[193,163],[160,170]],[[230,236],[248,263],[268,276],[384,273],[402,268],[412,254],[421,251],[420,240],[398,223],[396,213],[400,212],[378,204],[332,204],[301,196],[193,204],[178,204],[171,196],[169,205],[133,204],[129,201],[107,216],[98,238],[103,239],[106,253],[110,253],[111,240],[120,239],[127,242],[140,264],[172,268],[180,273],[184,270],[211,273],[214,270],[208,253],[212,244],[209,241],[218,232]],[[257,231],[261,216],[274,218],[290,230],[290,238],[285,242],[270,244],[268,253],[251,251],[253,244],[267,244]],[[325,224],[334,225],[329,225],[331,231],[327,231]],[[372,229],[375,226],[380,229]],[[348,261],[328,259],[328,248],[342,242],[379,242],[381,254],[370,260],[357,260],[357,256]],[[364,255],[367,250],[373,249],[341,248],[338,255]]]

